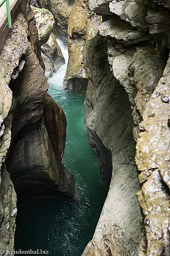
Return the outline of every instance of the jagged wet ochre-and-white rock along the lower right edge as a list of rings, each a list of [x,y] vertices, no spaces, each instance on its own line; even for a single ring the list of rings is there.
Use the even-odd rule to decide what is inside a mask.
[[[170,162],[168,118],[170,114],[169,60],[163,77],[143,112],[137,141],[136,162],[139,180],[139,204],[145,214],[147,246],[141,245],[139,255],[169,255],[169,187]],[[145,250],[146,249],[146,250]]]

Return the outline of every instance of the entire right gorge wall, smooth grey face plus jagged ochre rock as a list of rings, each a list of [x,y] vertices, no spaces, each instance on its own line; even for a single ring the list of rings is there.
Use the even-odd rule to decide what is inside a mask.
[[[89,1],[90,10],[102,15],[103,23],[99,26],[99,35],[87,44],[84,51],[90,80],[85,120],[90,130],[92,148],[100,160],[103,154],[108,153],[102,150],[99,139],[111,151],[113,171],[94,237],[83,255],[156,256],[170,253],[168,7],[167,2],[159,5],[158,2],[143,1]],[[105,48],[100,42],[105,42]],[[100,59],[103,59],[101,63]],[[105,72],[108,64],[109,71]],[[116,101],[118,96],[120,100]],[[126,105],[128,102],[129,107]],[[112,115],[117,117],[116,121]],[[124,117],[122,130],[121,117]],[[133,137],[130,137],[132,129],[137,142],[136,150]],[[119,148],[119,157],[116,148]],[[131,154],[128,155],[128,152]],[[131,168],[129,164],[134,155],[137,169],[134,162]],[[121,159],[126,159],[124,164],[128,163],[123,169]],[[101,170],[105,169],[104,165],[101,164]],[[110,170],[107,169],[109,174]],[[124,176],[128,173],[129,179]],[[128,195],[127,180],[130,186]],[[139,183],[142,189],[137,192]],[[141,217],[136,192],[144,216],[143,225],[139,223]],[[126,196],[128,198],[124,201]],[[121,204],[124,205],[123,210],[119,210]],[[130,216],[136,216],[135,223],[128,217],[133,209],[135,213]],[[136,228],[133,230],[133,227]]]

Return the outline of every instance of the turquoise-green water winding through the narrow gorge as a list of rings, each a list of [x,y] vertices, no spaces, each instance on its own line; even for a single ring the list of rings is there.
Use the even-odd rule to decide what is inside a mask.
[[[57,77],[49,80],[49,93],[66,114],[63,164],[75,177],[81,201],[41,199],[19,209],[15,249],[48,250],[50,256],[80,256],[94,234],[107,188],[99,173],[98,159],[88,143],[83,121],[84,96],[64,90]]]

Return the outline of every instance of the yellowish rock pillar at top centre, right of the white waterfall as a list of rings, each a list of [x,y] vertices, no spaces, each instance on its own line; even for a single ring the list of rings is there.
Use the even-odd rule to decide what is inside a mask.
[[[84,0],[44,1],[40,6],[48,8],[57,22],[57,31],[69,48],[69,63],[65,77],[67,90],[86,92],[88,76],[84,69],[83,49],[97,33],[101,20],[88,9]]]

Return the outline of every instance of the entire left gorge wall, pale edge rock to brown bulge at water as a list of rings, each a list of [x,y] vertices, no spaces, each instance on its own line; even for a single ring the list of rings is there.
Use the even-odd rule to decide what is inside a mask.
[[[35,25],[28,1],[25,16],[16,18],[0,55],[2,255],[14,248],[16,194],[18,203],[25,197],[74,195],[73,177],[62,166],[66,118],[46,93]]]

